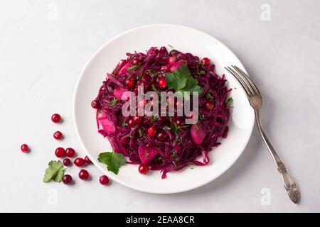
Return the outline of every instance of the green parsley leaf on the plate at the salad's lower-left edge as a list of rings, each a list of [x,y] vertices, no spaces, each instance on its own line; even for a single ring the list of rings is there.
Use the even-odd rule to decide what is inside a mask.
[[[107,165],[107,170],[114,172],[115,175],[118,174],[119,168],[126,163],[124,155],[119,153],[105,152],[100,153],[98,161]]]

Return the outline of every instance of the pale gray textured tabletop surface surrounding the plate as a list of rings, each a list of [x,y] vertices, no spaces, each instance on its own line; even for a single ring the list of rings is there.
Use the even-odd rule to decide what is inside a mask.
[[[270,21],[263,21],[270,6]],[[0,1],[0,211],[320,211],[320,1]],[[228,45],[263,97],[263,123],[302,191],[294,205],[255,129],[240,159],[214,182],[182,194],[113,183],[43,184],[60,145],[82,155],[71,118],[75,81],[97,48],[149,23],[198,28]],[[65,119],[50,122],[54,112]],[[19,151],[28,143],[32,152]],[[73,168],[75,169],[75,168]],[[75,177],[75,172],[73,172]],[[77,178],[77,177],[75,177]],[[264,190],[270,205],[261,203]],[[262,192],[262,194],[261,194]]]

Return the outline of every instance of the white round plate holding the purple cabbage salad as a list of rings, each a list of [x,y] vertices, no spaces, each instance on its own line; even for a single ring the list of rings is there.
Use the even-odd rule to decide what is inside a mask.
[[[230,118],[228,138],[222,139],[222,144],[210,152],[210,164],[186,167],[178,172],[169,172],[166,179],[161,179],[159,171],[150,171],[141,175],[137,165],[124,165],[119,174],[109,172],[105,165],[97,161],[99,153],[111,151],[107,138],[97,133],[95,110],[91,108],[92,99],[97,96],[102,81],[107,72],[112,72],[119,60],[126,58],[126,52],[144,52],[151,46],[169,45],[181,52],[191,52],[198,57],[209,57],[216,65],[216,72],[225,74],[228,86],[233,88],[233,113]],[[219,40],[212,36],[185,26],[171,24],[156,24],[142,26],[126,31],[109,40],[95,52],[82,70],[75,87],[73,100],[73,119],[75,131],[87,155],[102,171],[124,186],[142,192],[169,194],[185,192],[201,187],[219,177],[241,155],[252,133],[254,113],[243,90],[232,76],[223,70],[228,65],[241,64],[238,57]],[[235,89],[236,88],[236,89]]]

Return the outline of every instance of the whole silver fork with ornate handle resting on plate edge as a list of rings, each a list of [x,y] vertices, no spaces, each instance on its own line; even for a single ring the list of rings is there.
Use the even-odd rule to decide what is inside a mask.
[[[249,76],[243,72],[239,67],[232,65],[231,67],[225,67],[225,70],[230,72],[230,74],[237,79],[241,87],[245,90],[245,94],[247,94],[247,99],[249,99],[250,105],[255,111],[255,121],[257,123],[257,128],[260,132],[262,140],[267,145],[268,150],[274,160],[277,169],[279,170],[280,174],[282,175],[282,181],[284,184],[284,188],[287,190],[289,198],[294,204],[299,203],[300,200],[300,192],[297,188],[297,184],[294,182],[294,179],[289,175],[287,172],[286,166],[280,160],[279,155],[277,155],[276,151],[274,150],[270,140],[267,138],[265,131],[262,128],[262,123],[260,120],[260,108],[262,106],[262,96],[257,89],[257,86],[252,82]]]

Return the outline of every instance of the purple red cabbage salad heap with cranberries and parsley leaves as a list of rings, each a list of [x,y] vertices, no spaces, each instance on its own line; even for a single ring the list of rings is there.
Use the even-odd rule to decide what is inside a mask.
[[[191,165],[208,165],[208,153],[220,145],[219,138],[228,135],[233,99],[226,83],[225,75],[215,73],[215,65],[208,57],[200,60],[191,53],[168,51],[165,47],[151,47],[145,53],[128,52],[127,58],[107,73],[92,101],[97,109],[98,132],[112,146],[112,152],[100,153],[99,162],[115,174],[122,165],[134,164],[139,165],[141,174],[161,171],[161,178]],[[166,99],[166,106],[174,104],[171,115],[161,109],[160,114],[141,116],[134,107],[135,115],[127,116],[123,109],[131,97],[124,94],[137,95],[139,87],[144,94],[156,92],[160,96],[163,92],[181,92],[182,98]],[[178,115],[179,100],[196,103],[188,92],[196,94],[198,105],[191,114]],[[134,99],[131,103],[144,107],[151,101],[154,99]],[[152,104],[160,106],[159,102]],[[195,115],[195,123],[186,123]]]

